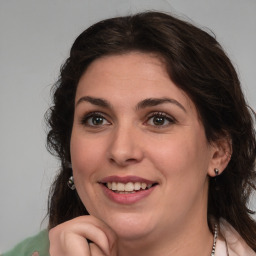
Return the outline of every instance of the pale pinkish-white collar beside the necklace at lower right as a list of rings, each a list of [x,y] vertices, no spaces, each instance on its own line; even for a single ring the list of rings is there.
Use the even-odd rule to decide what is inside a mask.
[[[237,231],[224,219],[220,220],[221,236],[217,239],[215,256],[256,256]]]

